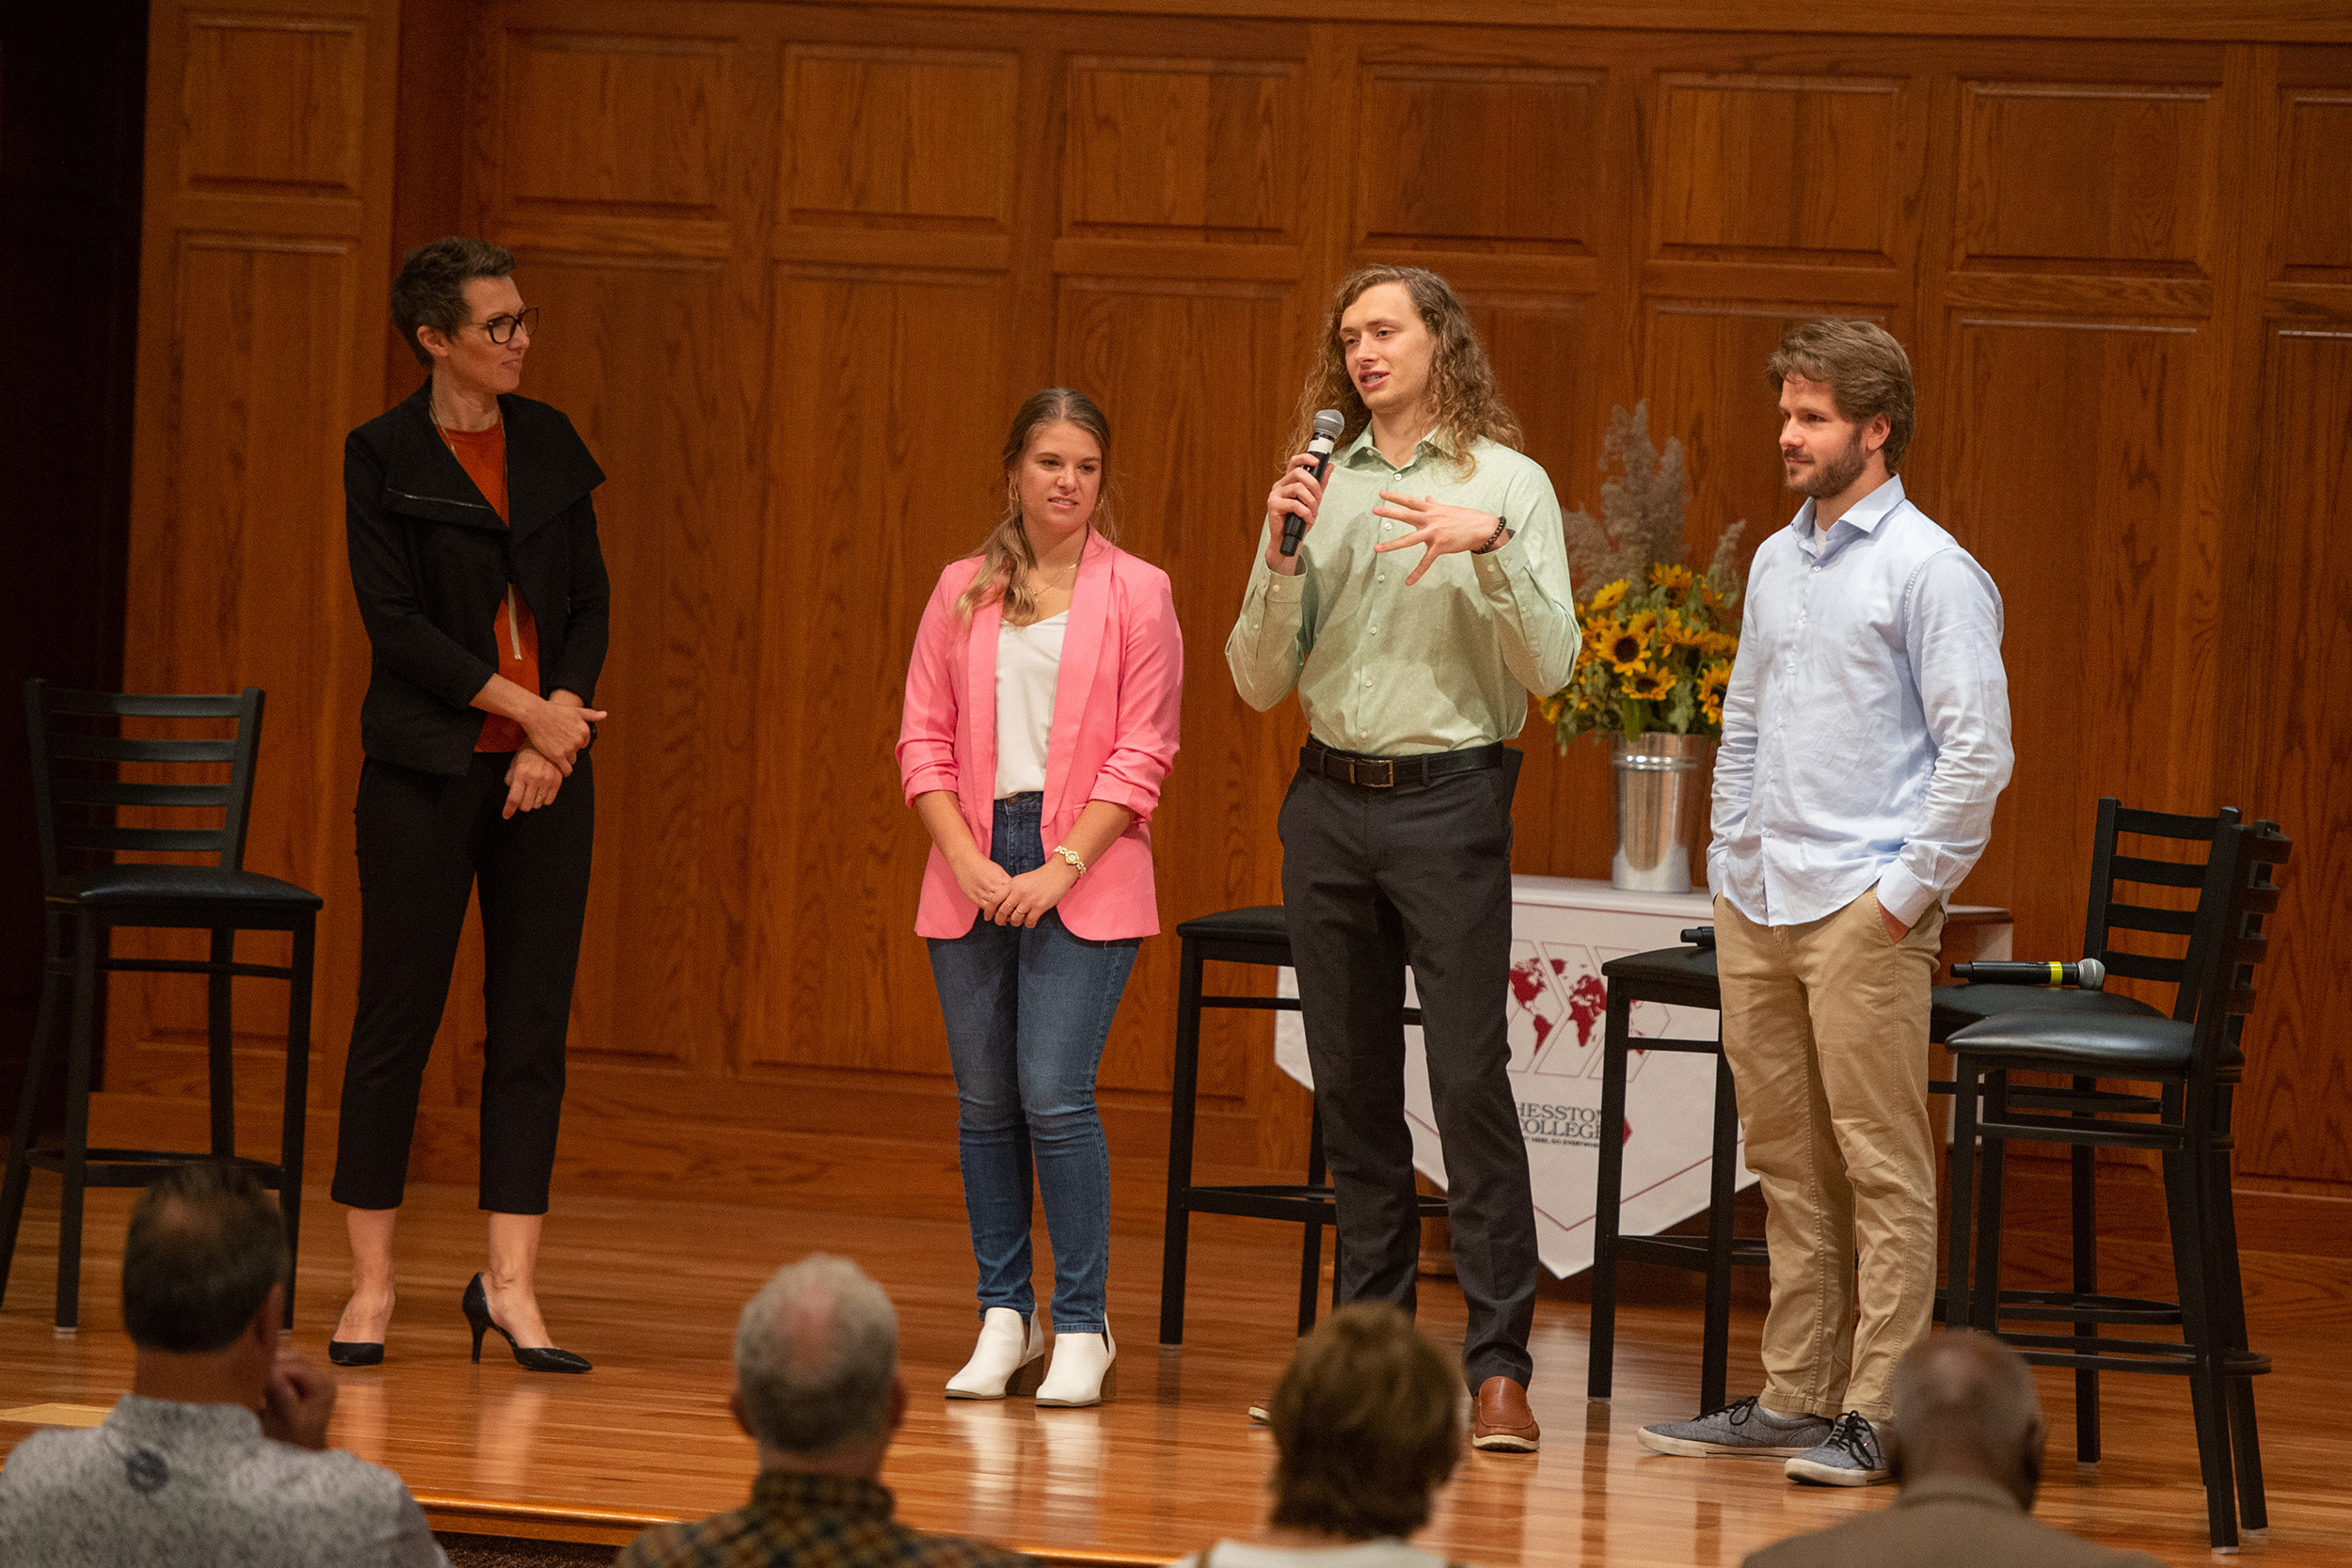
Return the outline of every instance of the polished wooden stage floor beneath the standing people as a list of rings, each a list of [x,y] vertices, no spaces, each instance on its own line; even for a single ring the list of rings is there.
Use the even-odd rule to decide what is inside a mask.
[[[0,1410],[108,1406],[129,1380],[113,1262],[127,1194],[92,1194],[92,1208],[85,1328],[54,1335],[54,1185],[35,1185],[0,1312]],[[325,1192],[310,1194],[306,1213],[296,1342],[325,1359],[346,1251]],[[456,1307],[477,1267],[473,1194],[419,1187],[400,1239],[390,1359],[336,1373],[334,1441],[397,1469],[442,1528],[619,1542],[652,1519],[734,1507],[753,1474],[753,1448],[724,1408],[734,1314],[769,1269],[818,1248],[858,1258],[901,1309],[915,1401],[884,1479],[903,1516],[1096,1563],[1160,1561],[1256,1526],[1272,1443],[1242,1410],[1289,1356],[1298,1253],[1294,1229],[1244,1220],[1195,1222],[1181,1352],[1152,1345],[1157,1234],[1117,1234],[1120,1399],[1098,1410],[1037,1410],[936,1396],[974,1331],[971,1258],[962,1227],[941,1220],[567,1199],[548,1227],[541,1300],[560,1342],[597,1371],[532,1375],[503,1356],[475,1368]],[[2272,1528],[2246,1556],[2352,1561],[2345,1279],[2267,1295],[2253,1312],[2256,1345],[2279,1371],[2258,1385]],[[1423,1324],[1458,1338],[1461,1316],[1451,1286],[1430,1281]],[[1696,1338],[1696,1309],[1632,1307],[1616,1399],[1585,1401],[1585,1309],[1545,1295],[1534,1342],[1545,1450],[1531,1460],[1472,1453],[1425,1544],[1498,1566],[1715,1566],[1891,1500],[1889,1488],[1792,1488],[1773,1465],[1644,1453],[1635,1443],[1642,1422],[1691,1413]],[[1755,1338],[1757,1321],[1743,1314],[1736,1392],[1748,1385],[1738,1368],[1755,1363]],[[2107,1458],[2077,1467],[2072,1382],[2042,1378],[2053,1432],[2039,1514],[2171,1563],[2206,1561],[2187,1389],[2171,1378],[2107,1378]],[[28,1432],[24,1420],[0,1420],[0,1448]]]

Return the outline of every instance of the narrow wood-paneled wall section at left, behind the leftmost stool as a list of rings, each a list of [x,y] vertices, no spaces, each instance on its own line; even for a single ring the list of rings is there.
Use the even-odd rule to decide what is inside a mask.
[[[327,898],[318,1027],[334,1039],[358,978],[367,686],[341,458],[381,411],[397,59],[400,0],[148,9],[122,684],[268,691],[247,865]],[[285,961],[285,938],[245,940]],[[202,957],[200,933],[167,945]],[[111,994],[108,1088],[202,1095],[205,983]],[[238,1006],[263,1041],[285,1027],[282,985],[240,980]],[[256,1081],[278,1067],[256,1060]]]

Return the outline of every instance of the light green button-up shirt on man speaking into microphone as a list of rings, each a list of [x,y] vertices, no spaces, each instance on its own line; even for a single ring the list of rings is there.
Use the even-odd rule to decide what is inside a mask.
[[[1552,480],[1529,456],[1479,437],[1463,475],[1439,433],[1395,468],[1367,425],[1334,461],[1298,576],[1258,564],[1225,663],[1242,701],[1265,712],[1298,686],[1298,708],[1324,745],[1414,755],[1508,741],[1526,726],[1529,691],[1569,684],[1576,602]],[[1411,529],[1374,517],[1381,491],[1435,496],[1491,512],[1510,541],[1486,555],[1439,555],[1411,588],[1421,550],[1376,555]]]

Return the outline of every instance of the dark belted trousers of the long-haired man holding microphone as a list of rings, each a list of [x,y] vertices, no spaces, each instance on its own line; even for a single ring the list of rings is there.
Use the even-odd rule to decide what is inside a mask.
[[[1338,1298],[1414,1309],[1421,1215],[1404,1124],[1404,966],[1446,1150],[1463,1373],[1534,1373],[1536,1204],[1510,1093],[1510,797],[1503,766],[1374,790],[1301,771],[1282,802],[1282,907],[1338,1194]]]

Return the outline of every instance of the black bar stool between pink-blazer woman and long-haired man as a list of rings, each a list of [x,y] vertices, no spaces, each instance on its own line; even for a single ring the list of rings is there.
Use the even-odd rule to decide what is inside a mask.
[[[1291,929],[1282,905],[1254,905],[1202,914],[1176,926],[1181,957],[1176,971],[1176,1084],[1169,1100],[1169,1206],[1167,1251],[1160,1265],[1160,1342],[1183,1345],[1185,1255],[1192,1241],[1195,1213],[1235,1213],[1251,1220],[1289,1220],[1305,1227],[1298,1251],[1298,1333],[1315,1326],[1315,1284],[1322,1276],[1322,1229],[1338,1220],[1338,1204],[1324,1182],[1322,1117],[1308,1133],[1308,1180],[1303,1185],[1192,1185],[1192,1121],[1200,1093],[1200,1013],[1202,1009],[1249,1009],[1261,1013],[1296,1013],[1296,997],[1207,997],[1202,964],[1265,964],[1289,969]],[[1418,1025],[1421,1009],[1404,1009],[1404,1023]],[[1442,1220],[1446,1201],[1423,1197],[1421,1215]],[[1338,1246],[1334,1239],[1334,1255]],[[1331,1291],[1338,1291],[1334,1272]]]

